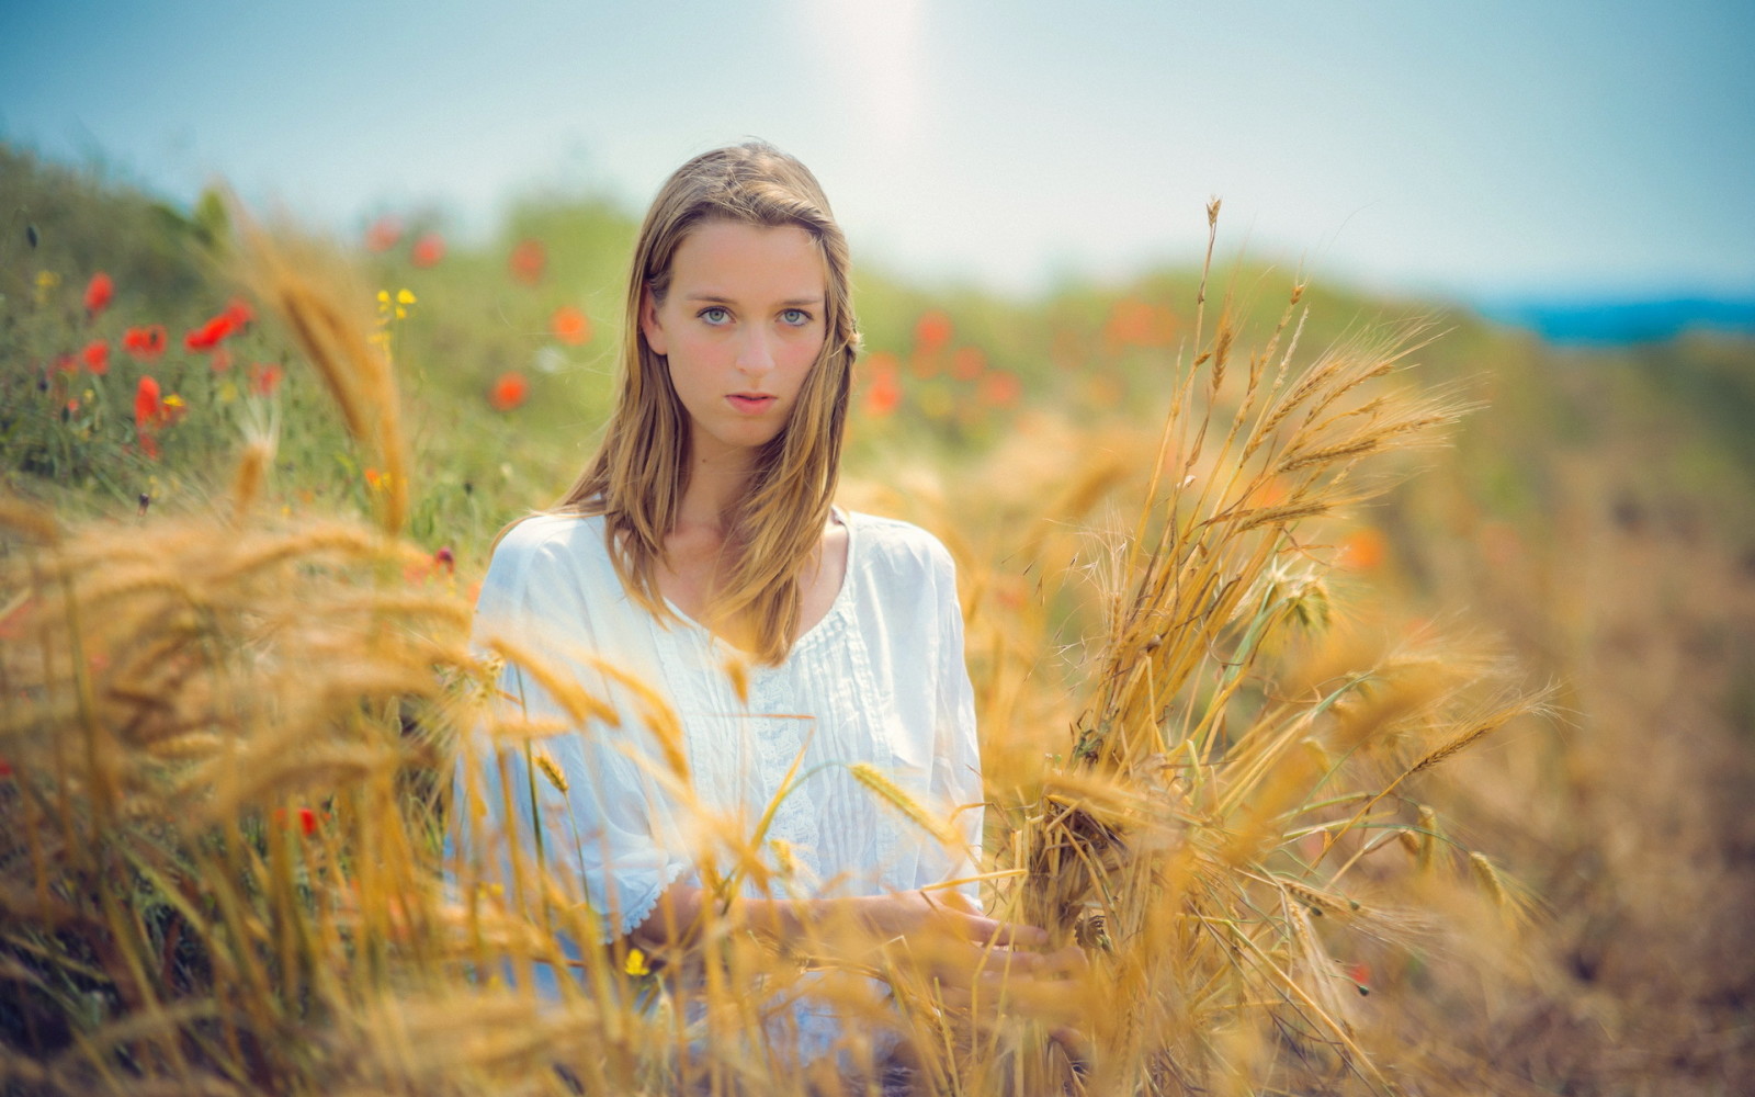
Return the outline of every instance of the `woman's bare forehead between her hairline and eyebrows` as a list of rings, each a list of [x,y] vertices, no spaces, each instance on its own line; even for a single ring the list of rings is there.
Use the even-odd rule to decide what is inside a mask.
[[[683,297],[820,298],[827,279],[823,249],[799,225],[707,221],[670,260],[670,291]]]

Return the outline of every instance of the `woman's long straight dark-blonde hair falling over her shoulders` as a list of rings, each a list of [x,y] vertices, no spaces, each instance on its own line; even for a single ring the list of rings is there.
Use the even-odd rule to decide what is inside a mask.
[[[758,449],[749,490],[725,516],[727,551],[709,607],[709,621],[748,623],[756,658],[779,663],[799,628],[799,577],[828,523],[858,351],[848,240],[799,160],[765,142],[728,146],[695,156],[658,191],[628,272],[616,411],[597,456],[555,509],[602,514],[621,584],[655,616],[670,616],[658,563],[688,488],[690,428],[639,314],[644,293],[663,302],[677,247],[706,221],[797,225],[816,240],[827,272],[823,349],[784,428]]]

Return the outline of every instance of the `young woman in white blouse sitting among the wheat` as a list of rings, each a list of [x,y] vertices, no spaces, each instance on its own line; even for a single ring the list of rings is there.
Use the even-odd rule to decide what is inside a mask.
[[[479,641],[555,669],[514,660],[502,693],[577,734],[542,742],[558,779],[511,774],[530,795],[490,792],[477,827],[546,842],[602,941],[665,948],[716,899],[704,865],[748,853],[772,807],[767,869],[723,918],[781,944],[828,920],[930,932],[953,943],[944,979],[971,988],[999,978],[995,946],[1013,978],[1046,964],[1027,951],[1046,936],[981,916],[969,881],[983,793],[951,558],[832,504],[856,344],[848,244],[802,163],[741,144],[663,184],[604,444],[500,539],[477,604]],[[874,772],[955,818],[960,844],[885,802]],[[806,1057],[835,1037],[827,1011],[795,1020]]]

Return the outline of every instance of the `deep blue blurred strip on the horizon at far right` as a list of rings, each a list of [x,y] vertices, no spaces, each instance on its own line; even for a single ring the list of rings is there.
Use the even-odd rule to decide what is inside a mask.
[[[1483,304],[1481,314],[1497,323],[1529,328],[1560,344],[1665,342],[1697,328],[1755,335],[1755,298],[1523,300]]]

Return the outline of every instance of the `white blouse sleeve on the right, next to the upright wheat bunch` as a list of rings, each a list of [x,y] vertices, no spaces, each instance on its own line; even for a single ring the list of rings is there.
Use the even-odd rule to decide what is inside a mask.
[[[937,649],[939,695],[934,720],[932,793],[941,804],[956,809],[956,828],[963,835],[967,855],[953,864],[949,879],[967,879],[979,872],[981,858],[981,748],[976,741],[974,686],[963,660],[963,613],[956,599],[956,565],[939,546],[935,560],[934,593],[937,595]],[[960,885],[958,890],[978,907],[981,885]]]

